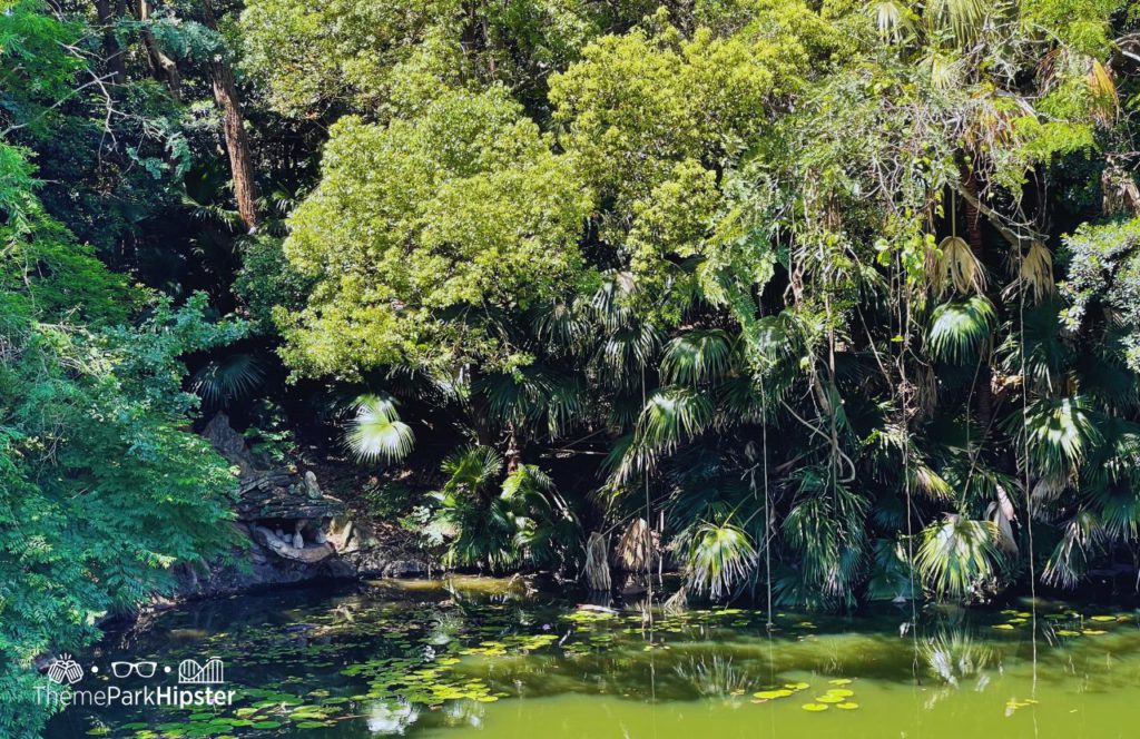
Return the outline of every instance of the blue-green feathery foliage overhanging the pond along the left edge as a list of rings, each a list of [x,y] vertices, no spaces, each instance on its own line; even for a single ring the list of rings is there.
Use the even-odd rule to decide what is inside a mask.
[[[202,294],[176,307],[132,286],[41,197],[48,188],[38,174],[55,147],[78,145],[107,125],[92,117],[97,98],[84,92],[91,84],[84,80],[97,72],[81,48],[81,23],[32,2],[3,10],[0,734],[19,738],[39,736],[50,712],[33,690],[44,681],[30,669],[34,660],[89,644],[99,617],[135,609],[170,588],[176,565],[198,566],[235,543],[227,522],[235,480],[187,428],[198,399],[184,390],[181,357],[228,344],[245,328],[207,319]],[[39,172],[33,156],[44,162]],[[111,147],[106,156],[114,169]],[[138,149],[127,156],[147,167]],[[66,213],[97,242],[115,226],[83,224],[84,198],[106,210],[116,196],[89,190],[83,172],[74,174],[79,196]],[[129,172],[101,176],[113,189],[130,187]],[[140,198],[136,205],[146,198],[131,197]]]

